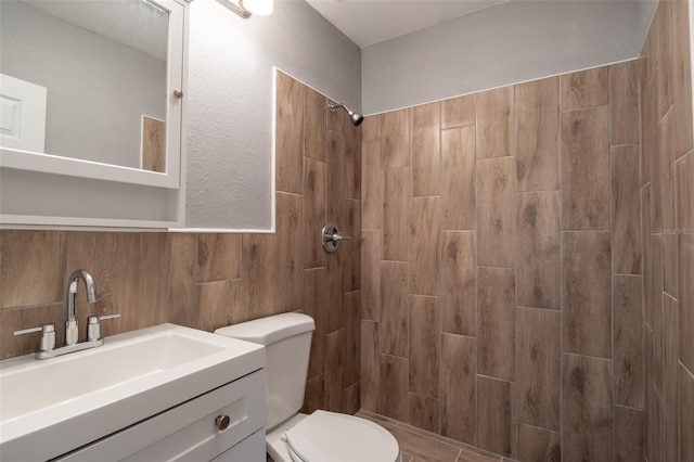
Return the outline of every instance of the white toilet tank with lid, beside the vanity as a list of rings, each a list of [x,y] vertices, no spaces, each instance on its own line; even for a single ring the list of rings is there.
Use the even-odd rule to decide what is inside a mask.
[[[265,345],[267,377],[266,431],[301,409],[311,352],[313,318],[296,312],[220,328],[216,334]]]

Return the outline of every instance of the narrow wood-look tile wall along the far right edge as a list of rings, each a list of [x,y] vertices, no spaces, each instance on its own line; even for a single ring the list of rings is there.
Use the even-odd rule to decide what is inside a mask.
[[[694,142],[687,18],[686,1],[659,2],[639,61],[645,395],[638,398],[645,405],[648,461],[694,460]],[[625,267],[631,265],[627,253],[622,258]],[[639,329],[629,323],[622,335],[634,336]],[[629,351],[620,355],[630,361]],[[622,398],[633,402],[631,384],[622,385]]]

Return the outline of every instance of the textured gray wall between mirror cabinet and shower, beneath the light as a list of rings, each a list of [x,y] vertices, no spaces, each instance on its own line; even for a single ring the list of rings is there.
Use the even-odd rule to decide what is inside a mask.
[[[241,17],[191,3],[187,228],[270,230],[272,66],[355,108],[359,48],[304,1]]]

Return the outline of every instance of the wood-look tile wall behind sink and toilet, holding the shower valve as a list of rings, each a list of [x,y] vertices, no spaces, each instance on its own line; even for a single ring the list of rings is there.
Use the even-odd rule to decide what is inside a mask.
[[[95,278],[99,301],[80,290],[77,313],[119,312],[104,335],[174,322],[206,331],[285,311],[316,320],[305,411],[357,412],[360,401],[361,129],[327,99],[278,74],[277,233],[191,234],[0,231],[0,358],[33,352],[53,322],[63,342],[65,281]],[[352,241],[323,252],[334,221]],[[81,333],[80,333],[81,334]]]

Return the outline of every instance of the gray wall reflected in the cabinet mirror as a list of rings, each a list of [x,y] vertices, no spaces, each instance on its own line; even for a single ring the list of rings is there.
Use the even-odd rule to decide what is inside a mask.
[[[0,72],[48,89],[46,152],[140,167],[141,115],[166,118],[166,62],[14,0]]]

